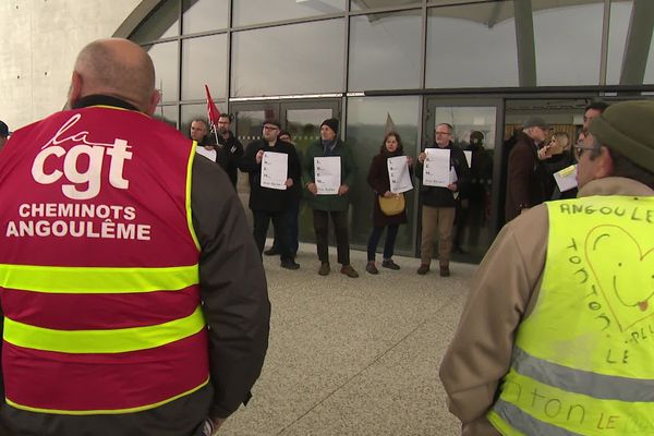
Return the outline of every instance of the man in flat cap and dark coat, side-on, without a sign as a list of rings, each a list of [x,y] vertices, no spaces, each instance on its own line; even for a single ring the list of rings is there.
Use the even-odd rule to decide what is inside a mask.
[[[545,165],[538,159],[538,149],[547,137],[547,123],[540,117],[531,117],[522,128],[509,154],[505,204],[507,222],[522,210],[549,199],[554,187]]]

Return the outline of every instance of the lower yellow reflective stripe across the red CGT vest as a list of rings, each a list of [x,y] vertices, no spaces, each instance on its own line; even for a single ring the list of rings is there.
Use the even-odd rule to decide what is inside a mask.
[[[191,315],[146,327],[104,330],[55,330],[4,317],[5,341],[17,347],[62,353],[123,353],[152,349],[186,338],[205,327],[202,307]]]

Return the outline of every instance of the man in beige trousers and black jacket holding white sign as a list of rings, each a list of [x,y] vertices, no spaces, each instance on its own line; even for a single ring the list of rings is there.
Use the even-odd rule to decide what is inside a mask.
[[[415,175],[421,180],[420,199],[422,204],[422,238],[420,246],[421,263],[417,274],[424,276],[429,271],[434,254],[434,237],[438,232],[438,261],[440,277],[448,277],[450,253],[452,251],[452,228],[455,226],[455,193],[465,185],[470,178],[470,169],[461,148],[452,144],[453,128],[448,123],[436,125],[435,144],[426,147],[417,156]],[[429,149],[448,150],[450,182],[446,186],[431,186],[423,180],[425,166],[428,164]],[[438,156],[439,153],[429,155]],[[432,159],[432,157],[429,157]],[[455,178],[456,177],[456,178]]]

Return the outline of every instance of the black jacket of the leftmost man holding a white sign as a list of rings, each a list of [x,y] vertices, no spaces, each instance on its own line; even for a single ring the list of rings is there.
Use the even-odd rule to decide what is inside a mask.
[[[289,155],[287,178],[293,179],[293,185],[300,185],[300,159],[298,159],[295,147],[282,141],[277,141],[274,146],[270,146],[265,140],[257,140],[247,145],[241,161],[241,170],[247,172],[250,179],[250,208],[255,211],[270,213],[287,210],[291,201],[296,197],[296,193],[292,187],[282,191],[261,185],[262,164],[256,162],[256,154],[259,150]]]

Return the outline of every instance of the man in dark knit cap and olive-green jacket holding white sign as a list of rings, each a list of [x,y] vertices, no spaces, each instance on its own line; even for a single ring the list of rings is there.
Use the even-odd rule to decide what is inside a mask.
[[[306,149],[302,175],[308,194],[306,203],[313,209],[316,247],[320,261],[318,274],[327,276],[330,271],[327,231],[329,226],[328,219],[331,216],[336,232],[338,263],[342,265],[340,271],[348,277],[356,278],[359,277],[359,272],[350,265],[350,242],[348,239],[348,207],[350,204],[348,193],[354,183],[356,164],[350,148],[338,138],[337,132],[338,120],[336,118],[323,121],[323,124],[320,124],[320,141],[310,145]],[[334,194],[323,194],[318,191],[316,183],[318,179],[323,179],[324,177],[322,170],[318,170],[318,166],[316,166],[316,160],[322,162],[324,158],[338,158],[337,169],[340,172],[338,183],[340,184]],[[334,168],[328,164],[324,162],[319,166],[325,165],[325,169],[331,174]],[[326,184],[328,185],[329,183]]]

